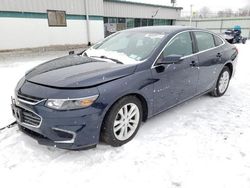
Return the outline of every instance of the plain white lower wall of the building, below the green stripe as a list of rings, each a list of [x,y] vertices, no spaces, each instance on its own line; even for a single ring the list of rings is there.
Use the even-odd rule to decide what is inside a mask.
[[[67,27],[48,27],[47,19],[0,18],[0,50],[87,44],[86,20],[69,19]],[[90,20],[90,41],[104,37],[103,21]]]

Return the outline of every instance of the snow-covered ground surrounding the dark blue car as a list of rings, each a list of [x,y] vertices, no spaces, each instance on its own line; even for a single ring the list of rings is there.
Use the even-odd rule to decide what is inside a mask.
[[[144,123],[130,143],[87,151],[41,146],[16,127],[0,133],[1,187],[250,187],[250,43],[221,98],[202,96]],[[0,126],[26,70],[51,56],[0,63]],[[22,59],[22,57],[20,57]]]

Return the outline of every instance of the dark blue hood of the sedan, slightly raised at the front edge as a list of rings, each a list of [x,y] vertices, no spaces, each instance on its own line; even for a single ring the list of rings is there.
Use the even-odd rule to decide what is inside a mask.
[[[43,63],[25,75],[29,82],[57,88],[96,86],[133,74],[136,65],[123,65],[69,55]]]

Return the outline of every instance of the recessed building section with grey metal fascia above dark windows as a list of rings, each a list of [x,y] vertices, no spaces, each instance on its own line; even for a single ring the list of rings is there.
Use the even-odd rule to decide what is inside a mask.
[[[182,9],[123,0],[104,0],[103,6],[105,36],[133,27],[173,25]]]

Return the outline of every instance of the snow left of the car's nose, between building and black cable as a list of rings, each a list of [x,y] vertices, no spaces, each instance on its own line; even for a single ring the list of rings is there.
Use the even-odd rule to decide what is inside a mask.
[[[11,96],[14,96],[16,84],[24,76],[25,72],[28,72],[36,65],[66,54],[67,52],[54,52],[54,54],[51,54],[51,52],[0,54],[0,86],[2,91],[0,94],[2,106],[0,128],[14,121],[10,108]]]

